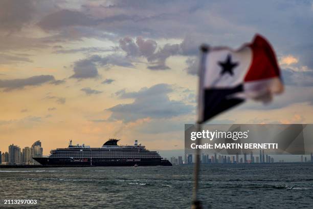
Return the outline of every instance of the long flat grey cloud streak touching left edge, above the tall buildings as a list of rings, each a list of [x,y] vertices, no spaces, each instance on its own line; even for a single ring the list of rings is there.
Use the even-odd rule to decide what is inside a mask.
[[[15,89],[23,89],[27,86],[40,86],[43,83],[54,81],[55,78],[52,75],[36,75],[29,78],[0,80],[0,89],[4,91],[11,91]]]

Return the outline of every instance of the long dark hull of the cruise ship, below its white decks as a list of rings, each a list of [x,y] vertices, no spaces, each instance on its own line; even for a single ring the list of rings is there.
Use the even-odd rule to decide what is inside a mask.
[[[39,157],[33,158],[41,165],[45,166],[171,166],[172,164],[168,160],[161,159],[134,159],[134,160],[122,160],[122,159],[73,159],[73,158],[49,158]]]

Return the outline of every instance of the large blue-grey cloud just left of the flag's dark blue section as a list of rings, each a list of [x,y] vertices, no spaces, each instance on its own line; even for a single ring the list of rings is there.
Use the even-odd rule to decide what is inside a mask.
[[[183,101],[170,100],[168,93],[172,91],[172,86],[160,83],[138,92],[119,92],[119,98],[133,98],[134,101],[107,109],[111,112],[108,120],[127,123],[144,118],[172,118],[192,113],[193,106],[186,105]]]

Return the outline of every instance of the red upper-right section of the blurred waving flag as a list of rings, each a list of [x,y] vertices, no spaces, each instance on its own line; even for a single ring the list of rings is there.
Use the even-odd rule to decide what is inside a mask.
[[[249,46],[252,49],[252,63],[244,81],[280,77],[276,56],[270,43],[257,34]]]

